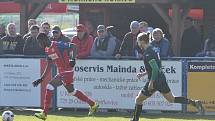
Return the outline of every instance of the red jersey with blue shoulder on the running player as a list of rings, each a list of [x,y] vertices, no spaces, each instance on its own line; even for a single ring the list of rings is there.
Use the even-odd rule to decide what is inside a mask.
[[[45,48],[48,58],[57,66],[59,73],[72,70],[69,63],[69,51],[69,44],[64,42],[52,41],[51,46]]]

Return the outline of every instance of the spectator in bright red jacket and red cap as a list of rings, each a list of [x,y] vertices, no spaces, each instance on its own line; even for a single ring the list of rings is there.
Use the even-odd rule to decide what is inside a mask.
[[[78,48],[77,58],[87,58],[90,56],[90,50],[93,44],[93,37],[89,35],[83,24],[76,27],[77,35],[72,37],[71,42],[76,44]]]

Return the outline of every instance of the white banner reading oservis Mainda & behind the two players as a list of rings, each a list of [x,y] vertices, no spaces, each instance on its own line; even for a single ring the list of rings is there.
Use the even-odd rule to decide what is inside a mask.
[[[182,63],[164,61],[167,82],[176,96],[182,96]],[[147,77],[138,80],[136,74],[144,72],[140,60],[79,60],[74,68],[74,85],[95,99],[101,108],[133,109],[138,92],[147,82]],[[64,87],[58,88],[57,106],[87,108],[86,103],[69,96]],[[182,110],[181,104],[170,104],[156,92],[148,98],[144,109]]]

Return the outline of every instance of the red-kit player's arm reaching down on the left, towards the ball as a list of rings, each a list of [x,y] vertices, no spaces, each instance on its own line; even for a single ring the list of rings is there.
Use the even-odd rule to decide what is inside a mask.
[[[46,77],[47,73],[49,72],[50,68],[51,68],[51,60],[48,59],[47,65],[45,67],[45,70],[44,70],[42,76],[39,79],[33,81],[32,84],[34,87],[37,87],[41,82],[43,82],[43,80]]]

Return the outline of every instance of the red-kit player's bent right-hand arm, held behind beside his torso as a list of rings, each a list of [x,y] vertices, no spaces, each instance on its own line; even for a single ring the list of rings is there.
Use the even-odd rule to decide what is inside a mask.
[[[69,62],[70,62],[70,65],[72,67],[74,67],[75,64],[76,64],[76,57],[77,57],[77,53],[78,53],[78,48],[73,43],[69,44],[69,48],[72,49],[72,51],[70,51],[70,53],[69,53],[69,56],[70,56],[70,61]]]

